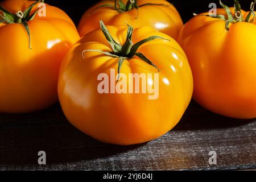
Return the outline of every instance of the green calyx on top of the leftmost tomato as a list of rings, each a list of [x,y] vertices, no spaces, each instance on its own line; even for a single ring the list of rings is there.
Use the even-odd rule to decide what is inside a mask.
[[[35,18],[36,13],[38,13],[39,9],[36,9],[34,13],[31,14],[32,8],[39,2],[44,2],[43,0],[38,0],[34,3],[32,3],[25,11],[17,11],[15,14],[10,13],[6,9],[4,9],[2,6],[0,6],[0,23],[20,23],[25,28],[27,34],[28,34],[28,43],[29,48],[31,48],[31,42],[30,42],[30,28],[28,27],[27,22],[30,20],[33,20]]]

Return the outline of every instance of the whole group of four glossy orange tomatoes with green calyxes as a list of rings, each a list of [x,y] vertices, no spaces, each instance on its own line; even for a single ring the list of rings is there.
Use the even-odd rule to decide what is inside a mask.
[[[107,0],[90,7],[76,28],[42,1],[3,1],[0,112],[27,113],[59,100],[75,127],[123,145],[171,130],[192,94],[214,113],[255,118],[256,1],[249,12],[234,2],[229,8],[220,1],[217,14],[183,25],[165,0]],[[111,69],[118,76],[158,73],[158,98],[99,93],[97,77]]]

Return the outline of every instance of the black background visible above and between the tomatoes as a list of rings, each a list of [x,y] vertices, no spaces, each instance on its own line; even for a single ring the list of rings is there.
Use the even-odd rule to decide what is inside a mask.
[[[218,0],[169,0],[174,4],[176,9],[179,11],[184,23],[187,22],[190,18],[192,18],[193,13],[203,13],[205,11],[209,11],[209,3],[216,3],[217,7],[220,7]],[[250,4],[253,0],[243,0],[240,1],[243,10],[249,10]],[[73,0],[73,1],[56,1],[56,0],[46,0],[46,3],[57,6],[60,9],[64,10],[77,24],[82,14],[88,9],[90,6],[94,5],[98,2],[98,0]],[[233,6],[233,0],[222,0],[228,6]]]

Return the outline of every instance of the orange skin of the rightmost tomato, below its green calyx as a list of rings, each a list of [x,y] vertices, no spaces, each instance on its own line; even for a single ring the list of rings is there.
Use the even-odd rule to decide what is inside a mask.
[[[218,9],[217,13],[225,11]],[[242,14],[246,17],[248,12]],[[224,20],[201,15],[182,28],[178,42],[191,65],[193,98],[217,114],[255,118],[256,26],[239,22],[229,28],[225,30]]]

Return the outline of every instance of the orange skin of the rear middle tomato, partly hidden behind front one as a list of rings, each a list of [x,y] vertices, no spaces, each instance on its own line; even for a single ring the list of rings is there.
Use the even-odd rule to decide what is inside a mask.
[[[123,1],[127,2],[127,1]],[[179,31],[183,26],[183,22],[178,11],[173,5],[165,0],[138,0],[138,6],[145,3],[164,4],[170,6],[143,6],[139,7],[138,13],[136,9],[118,13],[117,10],[109,7],[101,7],[100,5],[114,5],[113,1],[101,1],[88,9],[82,16],[79,26],[77,27],[80,36],[88,34],[88,32],[96,30],[99,27],[98,22],[103,20],[106,25],[126,25],[133,27],[150,26],[156,30],[170,35],[175,40],[179,35]],[[137,18],[138,17],[138,18]]]

